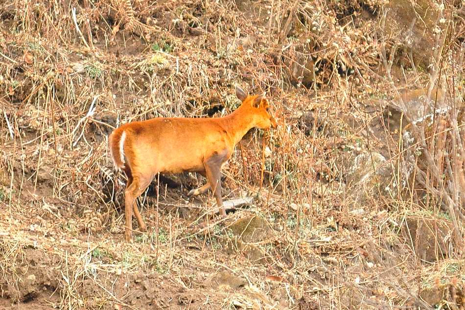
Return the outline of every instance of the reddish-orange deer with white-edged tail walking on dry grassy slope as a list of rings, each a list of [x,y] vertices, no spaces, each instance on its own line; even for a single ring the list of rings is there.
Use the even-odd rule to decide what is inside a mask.
[[[133,211],[141,232],[146,232],[136,199],[159,173],[197,172],[208,182],[188,192],[200,195],[211,190],[220,217],[226,217],[221,189],[221,168],[235,145],[252,128],[276,128],[265,93],[249,95],[239,86],[241,105],[232,113],[213,118],[153,118],[132,121],[116,128],[109,137],[115,168],[127,177],[124,191],[125,237],[132,242]]]

